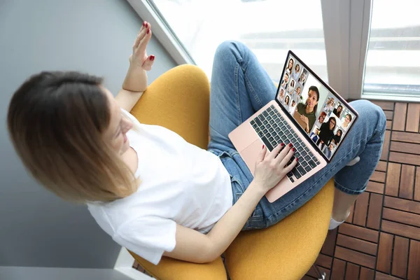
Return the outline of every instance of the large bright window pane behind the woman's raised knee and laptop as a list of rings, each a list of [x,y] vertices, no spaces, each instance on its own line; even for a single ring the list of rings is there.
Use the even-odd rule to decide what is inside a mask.
[[[278,83],[292,49],[327,79],[321,1],[148,0],[188,54],[208,76],[225,40],[248,45]],[[304,8],[301,8],[304,6]]]

